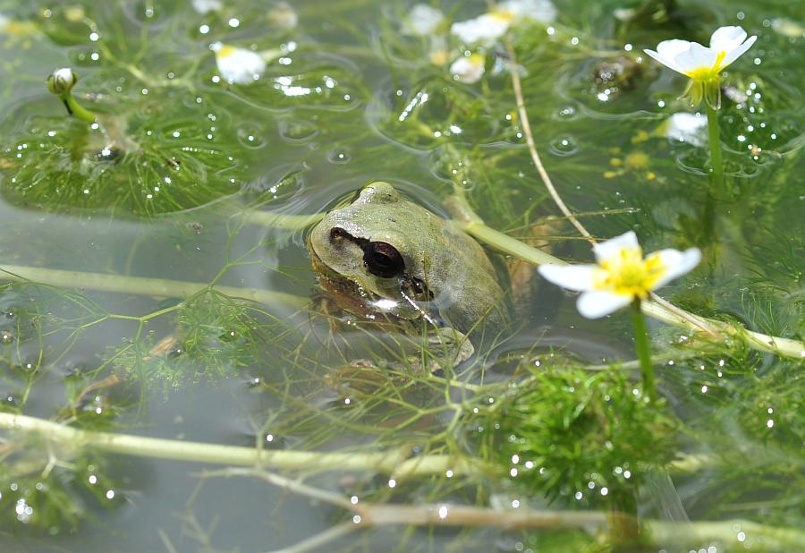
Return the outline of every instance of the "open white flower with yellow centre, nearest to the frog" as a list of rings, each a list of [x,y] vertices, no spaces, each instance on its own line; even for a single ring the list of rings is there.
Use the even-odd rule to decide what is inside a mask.
[[[583,292],[576,307],[584,317],[598,319],[682,276],[699,265],[701,251],[655,251],[643,259],[633,232],[593,246],[597,265],[540,265],[539,274],[555,285]]]

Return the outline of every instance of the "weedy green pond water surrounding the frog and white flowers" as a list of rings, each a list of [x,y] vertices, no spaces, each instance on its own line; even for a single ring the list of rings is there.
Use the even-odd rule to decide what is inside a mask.
[[[0,2],[0,549],[801,545],[801,10],[523,5],[462,44],[491,4]],[[704,104],[642,51],[722,25],[758,41],[716,190]],[[514,75],[590,234],[702,251],[659,294],[731,331],[649,319],[656,402],[628,312],[584,319],[512,255],[488,250],[509,324],[463,328],[466,359],[311,268],[311,226],[377,181],[590,262]],[[418,245],[412,211],[370,223]]]

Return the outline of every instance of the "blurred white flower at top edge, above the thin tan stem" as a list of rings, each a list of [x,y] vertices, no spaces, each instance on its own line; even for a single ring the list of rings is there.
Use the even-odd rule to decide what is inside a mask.
[[[502,37],[509,27],[520,20],[548,23],[556,18],[556,8],[550,0],[510,0],[497,4],[489,13],[467,21],[456,21],[450,32],[464,44],[489,43]]]

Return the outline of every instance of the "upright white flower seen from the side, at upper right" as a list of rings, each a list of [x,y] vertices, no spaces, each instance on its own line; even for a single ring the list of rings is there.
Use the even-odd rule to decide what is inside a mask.
[[[694,106],[701,98],[718,109],[721,105],[721,72],[755,44],[758,37],[746,38],[741,27],[720,27],[710,37],[710,47],[687,40],[663,40],[657,51],[644,50],[660,64],[691,78],[685,96]]]

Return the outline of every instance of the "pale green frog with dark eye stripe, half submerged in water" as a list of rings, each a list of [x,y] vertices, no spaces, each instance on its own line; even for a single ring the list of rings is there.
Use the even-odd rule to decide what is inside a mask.
[[[471,356],[483,336],[510,322],[508,276],[452,221],[405,198],[392,184],[364,186],[307,239],[318,285],[364,319],[427,328],[428,342]]]

